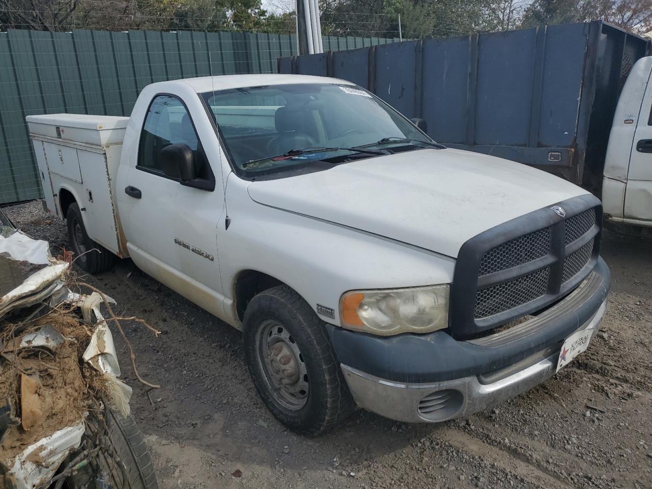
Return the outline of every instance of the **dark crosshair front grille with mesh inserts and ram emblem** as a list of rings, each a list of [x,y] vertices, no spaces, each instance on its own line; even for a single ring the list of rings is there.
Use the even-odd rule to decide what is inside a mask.
[[[451,291],[454,336],[471,336],[536,312],[589,274],[598,254],[600,202],[580,196],[560,205],[565,217],[546,207],[462,246]],[[537,222],[544,225],[537,228]]]

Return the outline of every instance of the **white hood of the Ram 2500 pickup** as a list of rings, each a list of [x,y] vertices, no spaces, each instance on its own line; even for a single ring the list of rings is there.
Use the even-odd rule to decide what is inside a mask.
[[[529,166],[459,149],[422,149],[248,186],[263,205],[457,257],[518,216],[586,194]]]

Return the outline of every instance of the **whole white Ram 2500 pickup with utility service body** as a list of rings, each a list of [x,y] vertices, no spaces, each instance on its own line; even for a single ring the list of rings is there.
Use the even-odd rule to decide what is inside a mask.
[[[261,398],[294,430],[355,403],[468,415],[554,374],[604,315],[595,196],[447,149],[352,83],[177,80],[129,118],[27,122],[80,266],[130,257],[243,330]]]

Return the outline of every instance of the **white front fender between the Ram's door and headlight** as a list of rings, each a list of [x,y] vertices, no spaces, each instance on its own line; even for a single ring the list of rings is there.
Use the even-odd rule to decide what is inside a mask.
[[[251,200],[246,182],[230,179],[228,229],[218,228],[224,309],[235,313],[237,276],[256,270],[284,282],[325,321],[340,324],[339,301],[351,289],[383,289],[452,282],[455,260],[417,248],[274,209]],[[331,309],[331,316],[323,314]]]

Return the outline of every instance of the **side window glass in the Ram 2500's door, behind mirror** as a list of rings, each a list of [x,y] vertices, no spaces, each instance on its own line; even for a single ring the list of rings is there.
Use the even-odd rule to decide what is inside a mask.
[[[171,95],[157,95],[147,110],[138,145],[138,168],[171,178],[160,164],[161,150],[174,143],[187,144],[194,155],[200,178],[211,180],[213,172],[183,102]],[[153,170],[153,171],[152,171]]]

